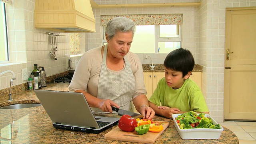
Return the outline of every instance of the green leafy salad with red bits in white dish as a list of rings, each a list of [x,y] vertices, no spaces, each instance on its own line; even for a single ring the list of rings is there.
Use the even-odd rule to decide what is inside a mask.
[[[211,118],[205,117],[204,113],[186,112],[175,118],[180,129],[190,128],[214,128],[220,129],[220,124],[214,125]]]

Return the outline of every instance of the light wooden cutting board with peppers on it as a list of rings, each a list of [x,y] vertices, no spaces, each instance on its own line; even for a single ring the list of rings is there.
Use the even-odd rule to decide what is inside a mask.
[[[169,126],[169,122],[159,122],[162,124],[164,129],[161,132],[147,132],[146,134],[139,135],[137,132],[124,132],[116,126],[113,130],[104,135],[107,140],[120,140],[126,142],[139,142],[146,144],[153,144],[156,139],[164,132]]]

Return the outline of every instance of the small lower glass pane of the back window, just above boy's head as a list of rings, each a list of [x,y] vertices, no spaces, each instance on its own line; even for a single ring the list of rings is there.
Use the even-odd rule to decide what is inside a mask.
[[[158,42],[158,53],[169,53],[180,48],[180,42]]]

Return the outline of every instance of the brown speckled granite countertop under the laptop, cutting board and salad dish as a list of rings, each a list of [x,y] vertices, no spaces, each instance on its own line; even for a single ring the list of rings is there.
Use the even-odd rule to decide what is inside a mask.
[[[48,84],[44,87],[45,90],[60,90],[67,91],[68,84]],[[40,103],[34,91],[25,91],[21,94],[14,94],[12,96],[14,101],[8,102],[7,96],[0,97],[0,106],[18,104],[18,103]],[[115,115],[114,117],[120,118]],[[219,139],[206,139],[206,140],[183,140],[180,138],[173,120],[156,116],[153,120],[168,121],[170,125],[156,140],[155,144],[163,144],[168,142],[169,144],[216,144],[216,143],[228,143],[238,144],[238,138],[228,128],[224,127]],[[115,128],[109,128],[108,130],[101,132],[100,134],[92,134],[86,132],[78,132],[71,130],[57,129],[52,126],[48,114],[42,106],[33,108],[13,109],[5,110],[0,109],[0,142],[12,142],[13,144],[20,143],[112,143],[112,144],[131,144],[131,142],[122,142],[116,140],[105,140],[104,134]]]

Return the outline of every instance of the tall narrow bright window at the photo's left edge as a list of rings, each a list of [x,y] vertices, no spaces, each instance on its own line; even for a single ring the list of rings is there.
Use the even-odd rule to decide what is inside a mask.
[[[8,60],[6,10],[5,4],[0,2],[0,62]]]

